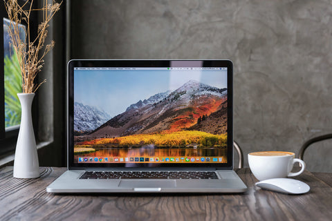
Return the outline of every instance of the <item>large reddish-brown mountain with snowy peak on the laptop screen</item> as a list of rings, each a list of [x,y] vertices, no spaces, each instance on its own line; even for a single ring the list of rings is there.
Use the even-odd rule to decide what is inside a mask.
[[[202,120],[203,119],[203,120]],[[174,91],[131,104],[89,136],[120,137],[161,131],[195,130],[213,134],[227,128],[227,88],[187,81]]]

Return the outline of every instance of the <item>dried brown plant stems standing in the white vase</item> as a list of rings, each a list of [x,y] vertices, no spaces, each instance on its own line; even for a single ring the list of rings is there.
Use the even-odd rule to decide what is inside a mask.
[[[48,34],[48,23],[55,15],[55,12],[60,9],[62,2],[56,3],[55,0],[53,0],[52,3],[48,4],[47,0],[44,0],[42,8],[33,9],[33,0],[30,1],[30,6],[28,6],[29,1],[26,1],[23,6],[20,6],[17,0],[3,1],[5,2],[8,19],[10,20],[8,27],[8,34],[11,39],[10,44],[16,52],[19,68],[21,70],[23,93],[35,93],[39,86],[46,82],[46,79],[44,79],[41,83],[35,84],[35,77],[37,77],[37,73],[42,70],[45,55],[55,45],[54,41],[50,41],[49,44],[44,46]],[[30,15],[33,11],[42,11],[43,21],[39,23],[37,37],[30,39]],[[21,39],[19,35],[22,21],[24,21],[27,26],[24,30],[24,39]]]

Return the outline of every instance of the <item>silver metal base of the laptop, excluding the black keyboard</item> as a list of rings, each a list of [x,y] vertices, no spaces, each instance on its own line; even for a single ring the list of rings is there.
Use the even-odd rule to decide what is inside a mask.
[[[84,171],[66,171],[50,184],[49,193],[243,193],[247,187],[234,171],[216,171],[219,179],[80,180]]]

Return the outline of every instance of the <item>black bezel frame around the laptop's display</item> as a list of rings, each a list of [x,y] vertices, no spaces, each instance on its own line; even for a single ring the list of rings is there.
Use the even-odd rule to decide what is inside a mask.
[[[228,128],[227,128],[227,163],[136,163],[134,167],[127,167],[126,163],[75,163],[74,162],[74,68],[77,67],[137,67],[137,68],[170,68],[170,67],[227,68],[228,91]],[[197,62],[201,61],[201,62]],[[174,66],[175,64],[175,66]],[[89,60],[75,59],[68,61],[67,75],[67,165],[68,169],[233,169],[233,65],[230,60]]]

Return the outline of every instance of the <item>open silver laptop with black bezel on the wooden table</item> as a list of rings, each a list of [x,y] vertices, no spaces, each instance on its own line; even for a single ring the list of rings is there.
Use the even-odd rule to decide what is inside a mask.
[[[68,170],[50,193],[242,193],[232,61],[71,60]]]

